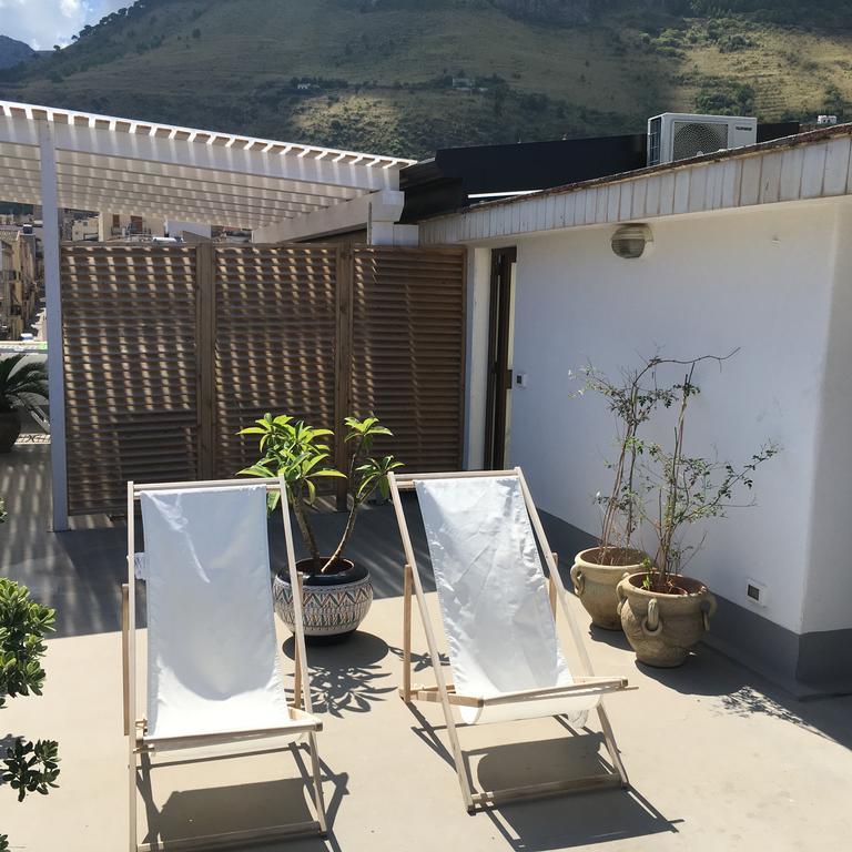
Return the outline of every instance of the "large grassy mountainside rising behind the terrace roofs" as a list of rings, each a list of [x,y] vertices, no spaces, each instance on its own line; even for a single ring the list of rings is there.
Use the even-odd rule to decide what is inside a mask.
[[[138,0],[0,98],[382,153],[852,118],[850,0]]]

